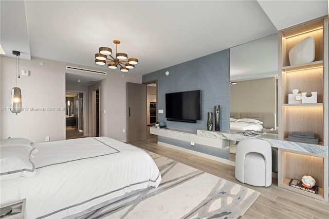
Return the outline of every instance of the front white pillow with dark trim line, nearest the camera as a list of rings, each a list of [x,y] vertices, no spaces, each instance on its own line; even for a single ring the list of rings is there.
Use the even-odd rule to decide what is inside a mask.
[[[31,161],[32,154],[37,151],[26,145],[11,145],[1,147],[0,177],[1,181],[21,176],[34,176],[35,166]]]

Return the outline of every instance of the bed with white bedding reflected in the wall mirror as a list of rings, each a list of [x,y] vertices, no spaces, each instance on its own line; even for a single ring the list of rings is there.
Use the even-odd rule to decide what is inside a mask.
[[[266,132],[276,129],[276,115],[262,112],[231,112],[230,130]]]

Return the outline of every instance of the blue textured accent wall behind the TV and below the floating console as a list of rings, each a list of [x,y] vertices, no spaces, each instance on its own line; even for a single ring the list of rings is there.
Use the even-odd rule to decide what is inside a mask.
[[[166,76],[165,72],[169,71]],[[167,127],[196,131],[207,129],[208,112],[213,112],[214,106],[221,105],[220,128],[229,131],[230,124],[230,50],[209,54],[185,63],[161,69],[143,76],[143,83],[157,80],[157,107],[163,109],[158,115],[158,121],[164,121]],[[166,93],[201,90],[201,120],[196,123],[167,121]],[[214,116],[213,116],[214,121]],[[214,122],[213,122],[214,125]],[[214,127],[213,127],[214,130]],[[217,157],[229,159],[229,150],[190,145],[189,142],[179,141],[166,137],[158,137],[158,141],[176,145],[178,147],[199,151]]]

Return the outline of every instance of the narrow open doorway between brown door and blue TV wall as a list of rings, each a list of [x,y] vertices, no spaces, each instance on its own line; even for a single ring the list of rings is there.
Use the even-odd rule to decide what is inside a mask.
[[[147,139],[157,139],[150,134],[150,127],[157,121],[157,84],[156,81],[147,84]]]

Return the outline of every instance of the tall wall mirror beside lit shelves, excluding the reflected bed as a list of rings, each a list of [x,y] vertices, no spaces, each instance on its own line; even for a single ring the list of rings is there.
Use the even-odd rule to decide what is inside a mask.
[[[278,35],[230,49],[232,117],[264,117],[266,130],[277,128]],[[270,115],[273,114],[273,117]],[[271,118],[270,118],[271,117]],[[273,120],[273,121],[269,121]],[[266,123],[265,123],[266,122]]]

